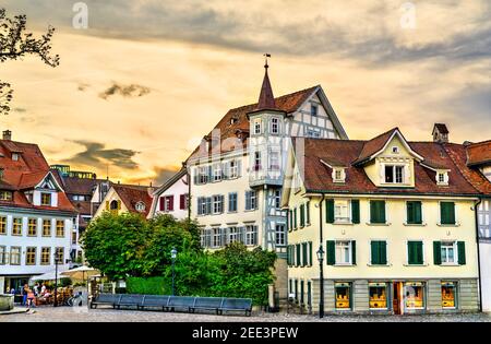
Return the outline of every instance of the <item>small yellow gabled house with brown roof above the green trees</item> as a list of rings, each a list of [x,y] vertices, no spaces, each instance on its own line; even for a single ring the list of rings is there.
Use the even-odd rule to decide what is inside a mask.
[[[104,212],[113,214],[134,213],[147,217],[152,206],[152,187],[113,183],[94,214],[94,218]]]

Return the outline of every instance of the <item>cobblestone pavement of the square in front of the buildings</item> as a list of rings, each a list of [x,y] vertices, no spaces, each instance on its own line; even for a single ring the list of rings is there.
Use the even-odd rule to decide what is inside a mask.
[[[319,319],[308,315],[258,313],[252,317],[211,316],[154,311],[91,309],[70,307],[35,308],[22,315],[0,316],[0,322],[491,322],[491,315],[444,315],[444,316],[327,316]]]

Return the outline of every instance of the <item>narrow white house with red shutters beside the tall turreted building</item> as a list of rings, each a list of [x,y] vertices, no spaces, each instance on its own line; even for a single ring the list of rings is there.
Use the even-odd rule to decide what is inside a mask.
[[[155,190],[147,217],[153,218],[159,214],[168,214],[177,220],[188,218],[190,215],[189,190],[188,170],[181,168],[160,188]]]

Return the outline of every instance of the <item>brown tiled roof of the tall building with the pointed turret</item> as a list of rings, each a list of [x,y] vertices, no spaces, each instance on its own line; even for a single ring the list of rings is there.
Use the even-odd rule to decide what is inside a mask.
[[[285,111],[286,114],[291,114],[298,110],[298,108],[312,95],[312,93],[320,86],[313,86],[310,88],[301,90],[291,94],[287,94],[275,98],[275,106],[278,110]],[[213,130],[219,130],[220,133],[220,152],[229,152],[235,149],[232,140],[227,140],[230,138],[237,138],[237,130],[241,130],[244,133],[249,133],[249,119],[248,114],[258,109],[259,104],[250,104],[241,106],[235,109],[230,109],[215,126]],[[235,119],[233,122],[231,120]],[[212,130],[212,132],[213,132]],[[212,132],[207,135],[212,138]],[[242,145],[246,147],[249,141],[246,139]],[[211,150],[216,150],[216,146],[211,147]],[[208,152],[203,152],[200,146],[194,150],[191,156],[188,158],[195,158],[200,156],[207,156]]]

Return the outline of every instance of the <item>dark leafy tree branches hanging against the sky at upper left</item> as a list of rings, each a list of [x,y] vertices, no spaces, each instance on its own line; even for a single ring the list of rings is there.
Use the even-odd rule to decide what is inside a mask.
[[[49,67],[60,64],[60,57],[51,55],[51,38],[55,27],[48,26],[48,32],[40,38],[26,33],[26,15],[7,16],[5,9],[0,9],[0,62],[20,60],[27,55],[38,56]],[[0,80],[0,115],[10,111],[13,90],[7,82]]]

